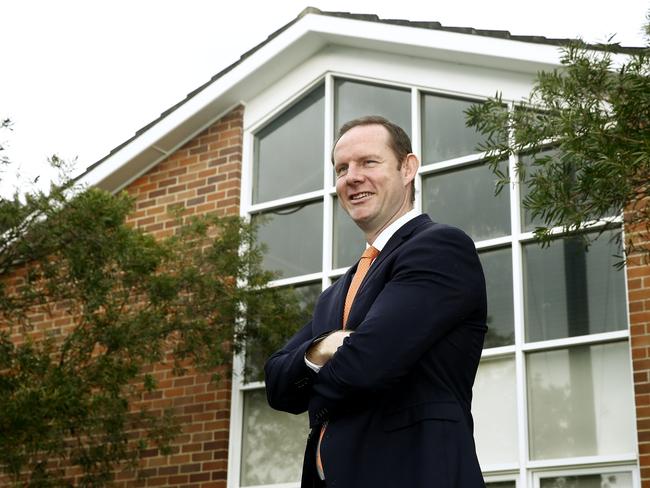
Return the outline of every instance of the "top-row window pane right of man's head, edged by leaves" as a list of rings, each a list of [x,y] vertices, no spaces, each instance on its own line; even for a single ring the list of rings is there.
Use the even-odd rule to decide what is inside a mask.
[[[477,102],[458,98],[422,97],[422,158],[424,164],[477,153],[483,137],[465,126],[465,113]]]

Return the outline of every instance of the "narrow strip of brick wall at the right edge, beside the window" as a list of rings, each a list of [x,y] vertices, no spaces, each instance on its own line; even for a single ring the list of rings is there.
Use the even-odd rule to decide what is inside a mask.
[[[628,226],[626,238],[645,246],[650,243],[645,225]],[[650,488],[650,257],[629,257],[627,287],[641,485]]]

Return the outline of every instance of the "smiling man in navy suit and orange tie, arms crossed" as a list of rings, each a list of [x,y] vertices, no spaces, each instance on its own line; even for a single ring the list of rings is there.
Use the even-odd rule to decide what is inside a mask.
[[[395,124],[348,122],[332,162],[369,252],[265,366],[271,407],[309,411],[302,487],[484,486],[470,413],[487,330],[474,243],[413,210],[419,162]]]

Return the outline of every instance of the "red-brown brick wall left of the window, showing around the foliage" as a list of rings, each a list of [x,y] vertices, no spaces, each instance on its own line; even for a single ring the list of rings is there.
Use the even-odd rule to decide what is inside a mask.
[[[243,113],[243,107],[232,110],[129,185],[126,191],[136,200],[130,223],[163,238],[174,232],[177,219],[171,212],[179,208],[183,215],[239,215]],[[176,377],[170,367],[154,369],[159,390],[146,398],[147,406],[175,408],[182,433],[171,455],[160,456],[156,449],[145,453],[144,480],[122,472],[116,486],[225,488],[231,385],[223,373],[214,384],[207,374]]]

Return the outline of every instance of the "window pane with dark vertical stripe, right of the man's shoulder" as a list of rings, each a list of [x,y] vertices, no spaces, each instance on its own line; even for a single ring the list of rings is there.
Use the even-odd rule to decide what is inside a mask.
[[[541,341],[627,328],[619,245],[603,233],[588,252],[579,236],[542,248],[524,245],[526,340]]]

